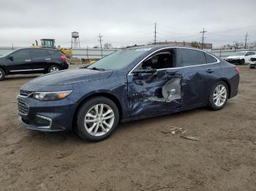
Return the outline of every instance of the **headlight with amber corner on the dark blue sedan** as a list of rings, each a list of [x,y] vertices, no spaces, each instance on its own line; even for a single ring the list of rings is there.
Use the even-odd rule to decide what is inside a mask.
[[[35,92],[33,98],[39,101],[55,101],[66,98],[70,93],[72,93],[72,90],[61,92]]]

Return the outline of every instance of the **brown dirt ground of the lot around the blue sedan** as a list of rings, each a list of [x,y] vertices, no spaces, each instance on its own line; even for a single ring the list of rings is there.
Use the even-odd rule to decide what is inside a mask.
[[[0,82],[0,190],[255,190],[256,69],[241,66],[225,109],[127,122],[99,143],[75,133],[20,128],[18,89],[37,75]],[[165,125],[187,130],[182,139]]]

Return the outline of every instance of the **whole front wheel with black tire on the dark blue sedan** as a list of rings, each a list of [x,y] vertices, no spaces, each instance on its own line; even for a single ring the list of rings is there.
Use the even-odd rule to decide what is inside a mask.
[[[108,138],[118,125],[118,108],[109,98],[91,98],[80,107],[76,122],[76,131],[82,139],[102,141]]]

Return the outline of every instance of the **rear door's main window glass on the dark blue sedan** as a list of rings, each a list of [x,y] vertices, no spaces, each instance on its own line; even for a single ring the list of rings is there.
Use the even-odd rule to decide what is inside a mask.
[[[181,66],[195,66],[206,63],[206,56],[202,51],[186,48],[181,48],[180,51]]]

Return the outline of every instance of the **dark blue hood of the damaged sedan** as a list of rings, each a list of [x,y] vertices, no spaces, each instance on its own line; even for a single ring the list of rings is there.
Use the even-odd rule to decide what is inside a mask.
[[[97,71],[91,69],[69,69],[45,74],[32,79],[29,83],[34,85],[71,85],[95,79],[110,77],[113,71]]]

